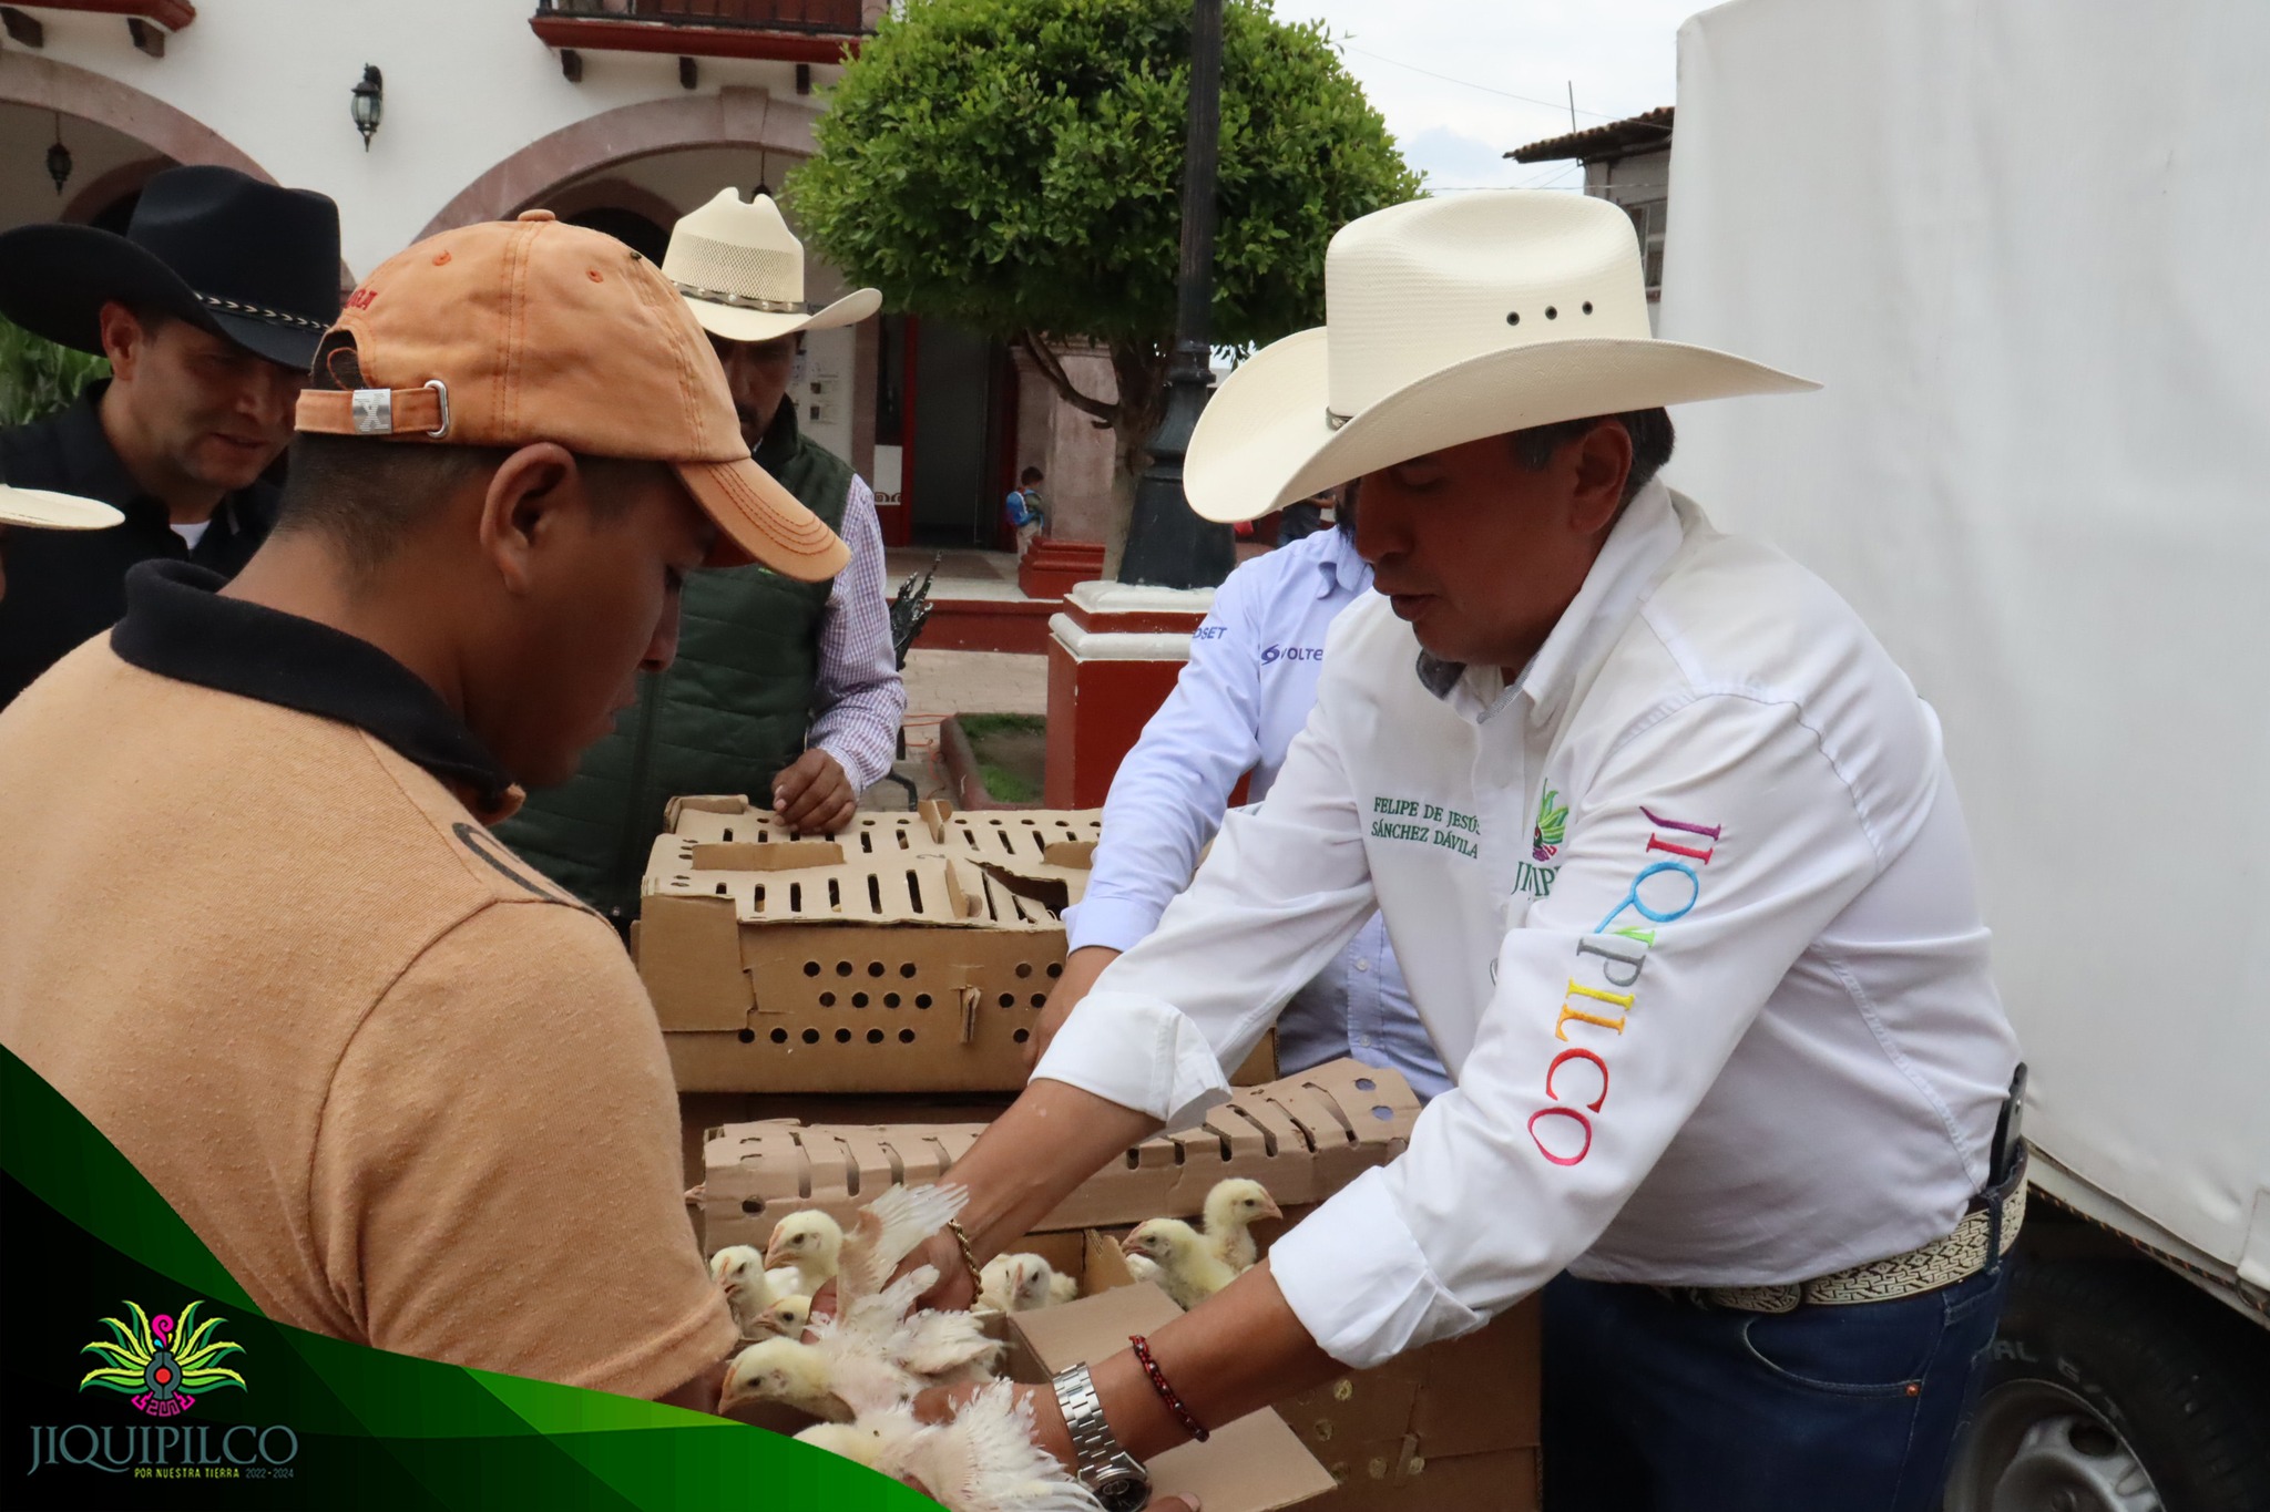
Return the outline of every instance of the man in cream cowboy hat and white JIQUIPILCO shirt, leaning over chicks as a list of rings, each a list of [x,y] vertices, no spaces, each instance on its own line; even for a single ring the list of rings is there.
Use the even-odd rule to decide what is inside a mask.
[[[1544,1290],[1555,1507],[1936,1507],[2023,1215],[1939,723],[1836,594],[1655,478],[1662,406],[1811,385],[1653,340],[1582,195],[1367,215],[1326,304],[1228,379],[1187,487],[1239,519],[1355,481],[1378,596],[1267,802],[956,1165],[960,1222],[983,1260],[1219,1102],[1371,909],[1455,1086],[1155,1369],[1040,1392],[1042,1435],[1117,1489],[1119,1451]],[[960,1254],[919,1251],[942,1301]]]

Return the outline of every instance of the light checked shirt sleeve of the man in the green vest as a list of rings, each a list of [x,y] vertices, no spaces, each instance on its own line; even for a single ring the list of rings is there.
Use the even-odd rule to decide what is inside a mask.
[[[874,490],[858,474],[844,499],[844,544],[851,560],[835,574],[819,612],[819,676],[813,682],[813,746],[842,764],[851,791],[883,780],[899,755],[906,682],[890,646],[890,603],[883,598],[883,528]]]

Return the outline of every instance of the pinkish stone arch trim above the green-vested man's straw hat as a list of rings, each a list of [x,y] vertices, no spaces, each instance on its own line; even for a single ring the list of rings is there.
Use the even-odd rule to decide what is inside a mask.
[[[763,88],[720,88],[715,95],[622,104],[540,136],[511,154],[461,188],[418,238],[477,220],[518,215],[554,184],[656,152],[763,147],[810,156],[817,120],[815,107],[781,100]]]

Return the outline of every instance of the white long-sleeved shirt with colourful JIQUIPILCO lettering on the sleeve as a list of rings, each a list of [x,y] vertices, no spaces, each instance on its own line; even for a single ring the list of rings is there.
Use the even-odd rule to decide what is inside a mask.
[[[1986,1181],[2016,1043],[1939,721],[1818,578],[1659,483],[1512,687],[1344,614],[1269,800],[1035,1074],[1180,1124],[1373,907],[1457,1086],[1271,1251],[1348,1365],[1564,1267],[1902,1254]]]

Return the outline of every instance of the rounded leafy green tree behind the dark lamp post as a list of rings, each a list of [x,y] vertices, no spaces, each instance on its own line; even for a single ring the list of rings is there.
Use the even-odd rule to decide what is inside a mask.
[[[1228,0],[1221,29],[1212,340],[1251,347],[1323,320],[1326,243],[1419,175],[1321,25]],[[1189,0],[913,0],[785,193],[892,308],[1024,347],[1117,431],[1126,478],[1165,404],[1187,113]],[[1119,397],[1081,392],[1049,338],[1105,347]]]

